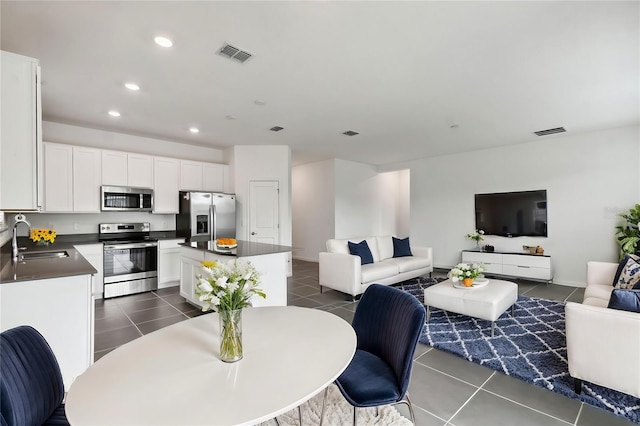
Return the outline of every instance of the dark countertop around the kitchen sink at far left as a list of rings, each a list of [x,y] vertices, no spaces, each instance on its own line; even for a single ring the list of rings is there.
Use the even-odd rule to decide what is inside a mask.
[[[9,249],[11,249],[11,242],[9,242]],[[31,259],[13,263],[11,261],[11,250],[9,250],[8,253],[3,250],[2,253],[0,253],[0,284],[74,275],[88,275],[97,272],[76,249],[72,247],[62,247],[62,245],[58,246],[57,241],[54,245],[45,247],[38,246],[38,250],[27,250],[25,252],[58,250],[65,250],[69,254],[69,257]]]

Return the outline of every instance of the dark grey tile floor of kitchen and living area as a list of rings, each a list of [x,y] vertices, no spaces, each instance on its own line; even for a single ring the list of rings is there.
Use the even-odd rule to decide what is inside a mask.
[[[444,276],[436,271],[434,276]],[[582,301],[583,289],[519,281],[520,294]],[[358,302],[326,290],[320,293],[318,264],[294,260],[288,280],[289,305],[332,312],[351,322]],[[177,287],[96,301],[95,358],[143,334],[202,315]],[[418,345],[409,393],[422,426],[633,425],[622,417],[513,379],[454,355]],[[405,416],[404,406],[397,406]]]

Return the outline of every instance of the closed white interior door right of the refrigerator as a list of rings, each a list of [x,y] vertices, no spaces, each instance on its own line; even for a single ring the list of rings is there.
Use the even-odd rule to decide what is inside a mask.
[[[249,182],[249,241],[280,244],[278,181]]]

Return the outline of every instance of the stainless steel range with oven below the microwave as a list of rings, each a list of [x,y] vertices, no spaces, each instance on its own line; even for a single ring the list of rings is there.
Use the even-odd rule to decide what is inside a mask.
[[[158,241],[148,223],[101,223],[104,243],[104,298],[158,288]]]

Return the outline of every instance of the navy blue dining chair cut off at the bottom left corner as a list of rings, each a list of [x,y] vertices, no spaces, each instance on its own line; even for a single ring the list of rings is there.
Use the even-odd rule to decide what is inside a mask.
[[[68,425],[58,361],[45,338],[22,325],[0,333],[2,425]]]

